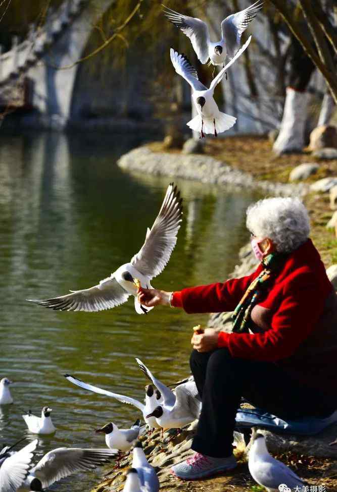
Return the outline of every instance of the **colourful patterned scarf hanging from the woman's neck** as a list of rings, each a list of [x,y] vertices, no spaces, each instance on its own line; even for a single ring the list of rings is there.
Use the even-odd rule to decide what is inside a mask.
[[[270,253],[263,258],[264,269],[248,287],[232,314],[232,331],[234,333],[249,333],[249,329],[253,327],[252,309],[258,303],[277,271],[283,266],[285,256],[280,253]]]

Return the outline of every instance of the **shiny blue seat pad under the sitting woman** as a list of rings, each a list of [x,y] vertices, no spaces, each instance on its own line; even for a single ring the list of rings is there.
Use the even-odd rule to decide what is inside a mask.
[[[237,429],[258,426],[286,434],[314,435],[337,422],[337,410],[325,418],[303,417],[301,420],[285,421],[262,408],[240,408],[237,410],[235,422]]]

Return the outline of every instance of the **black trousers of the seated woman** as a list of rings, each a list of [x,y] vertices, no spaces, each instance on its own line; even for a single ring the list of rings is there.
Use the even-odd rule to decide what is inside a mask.
[[[244,397],[283,419],[326,417],[335,410],[272,362],[233,358],[226,348],[190,356],[203,406],[192,449],[215,458],[232,454],[236,410]]]

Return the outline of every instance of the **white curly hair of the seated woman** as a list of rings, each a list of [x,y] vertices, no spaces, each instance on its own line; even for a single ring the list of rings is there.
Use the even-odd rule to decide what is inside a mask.
[[[246,225],[256,237],[272,240],[276,251],[290,253],[309,237],[310,221],[299,198],[265,198],[247,209]]]

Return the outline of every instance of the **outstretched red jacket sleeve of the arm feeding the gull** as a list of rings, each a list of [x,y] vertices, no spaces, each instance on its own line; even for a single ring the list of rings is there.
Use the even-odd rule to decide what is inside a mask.
[[[174,292],[172,305],[183,307],[186,313],[233,311],[261,270],[262,266],[259,265],[254,273],[247,277],[227,280],[223,284],[218,282]]]

